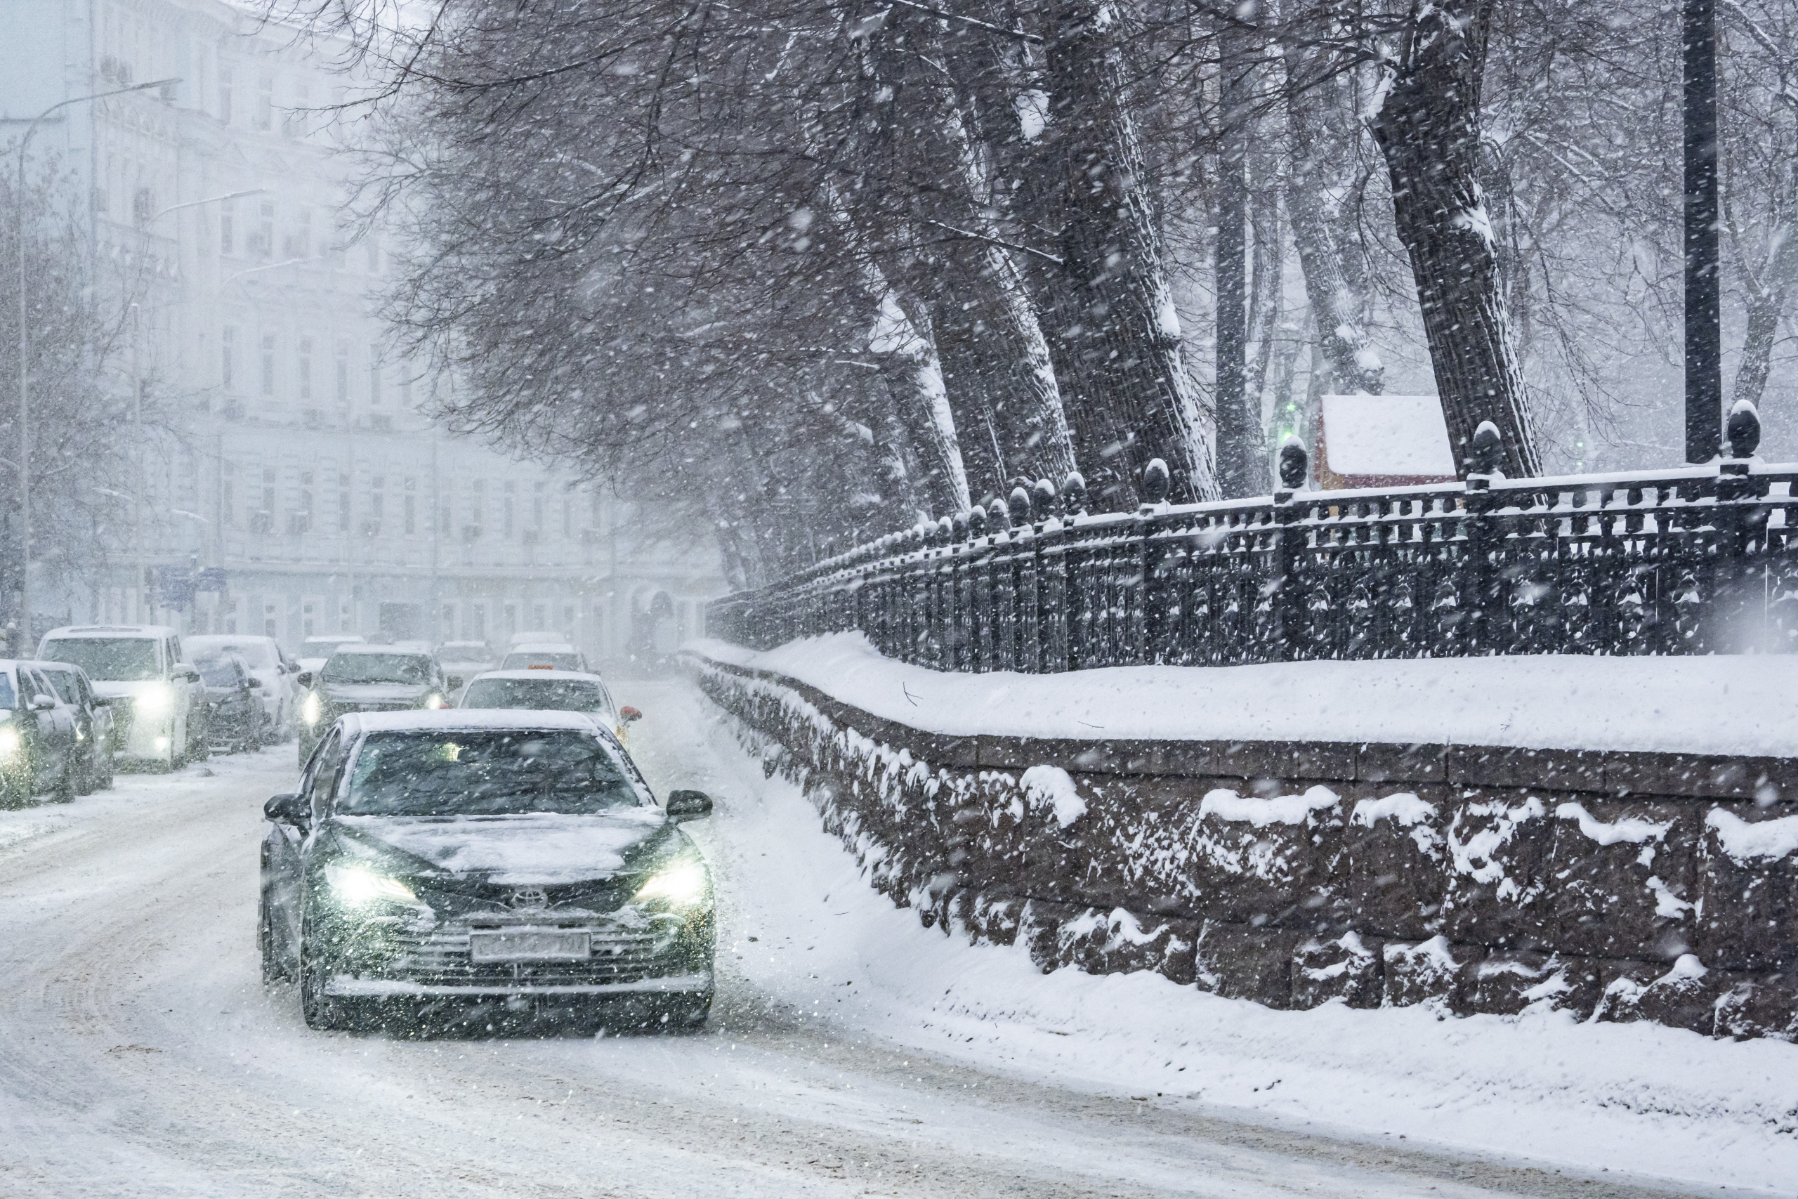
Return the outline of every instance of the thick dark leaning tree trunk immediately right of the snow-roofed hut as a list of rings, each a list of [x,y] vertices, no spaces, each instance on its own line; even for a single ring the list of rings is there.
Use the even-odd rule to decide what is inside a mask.
[[[1492,421],[1505,473],[1530,476],[1541,473],[1535,430],[1480,189],[1480,86],[1492,4],[1447,0],[1413,9],[1374,137],[1386,158],[1393,221],[1411,257],[1460,471],[1474,430]]]

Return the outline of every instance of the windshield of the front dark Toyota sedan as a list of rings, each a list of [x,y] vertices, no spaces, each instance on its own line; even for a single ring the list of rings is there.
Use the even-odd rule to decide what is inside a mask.
[[[351,768],[349,816],[586,816],[645,805],[635,771],[572,728],[369,733]]]

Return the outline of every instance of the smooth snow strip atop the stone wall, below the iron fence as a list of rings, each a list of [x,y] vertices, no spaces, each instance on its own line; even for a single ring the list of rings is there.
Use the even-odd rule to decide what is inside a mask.
[[[755,653],[881,719],[955,737],[1377,741],[1798,755],[1798,658],[1424,658],[1253,667],[949,674],[883,658],[861,633]]]

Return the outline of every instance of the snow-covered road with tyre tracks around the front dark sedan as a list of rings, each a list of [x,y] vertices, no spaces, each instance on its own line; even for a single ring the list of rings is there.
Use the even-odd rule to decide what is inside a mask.
[[[1598,1158],[1555,1141],[1539,1167],[1419,1149],[1428,1122],[1408,1125],[1401,1143],[1406,1125],[1377,1115],[1352,1129],[1354,1120],[1313,1122],[1318,1113],[1304,1107],[1244,1111],[1232,1088],[1246,1097],[1248,1086],[1224,1066],[1208,1073],[1199,1057],[1188,1055],[1199,1064],[1187,1071],[1170,1052],[1145,1071],[1129,1052],[1140,1057],[1153,1037],[1120,1044],[1108,1086],[1093,1052],[1109,1050],[1054,1026],[1055,996],[1117,998],[1122,1019],[1160,980],[1063,985],[1030,974],[1019,955],[926,933],[859,884],[809,807],[786,784],[764,782],[692,690],[619,690],[647,712],[636,748],[658,791],[698,786],[719,802],[701,832],[725,904],[721,994],[705,1032],[444,1041],[307,1032],[289,989],[264,994],[252,935],[261,804],[293,780],[291,746],[218,759],[210,777],[122,775],[117,791],[68,807],[0,813],[0,1195],[1649,1190],[1598,1172],[1604,1138],[1615,1136],[1602,1125],[1589,1134]],[[980,1008],[978,978],[967,1003],[951,996],[930,1008],[908,990],[937,990],[948,976],[949,994],[960,973],[987,964],[1000,971],[996,987],[1034,978],[1054,994],[1019,999],[1012,1023],[996,1026]],[[1075,983],[1088,990],[1070,990]],[[1102,990],[1120,983],[1127,989]],[[1224,1007],[1244,1007],[1179,996],[1197,999],[1210,1007],[1192,1008],[1194,1035]],[[1307,1028],[1316,1035],[1318,1025]],[[1259,1070],[1280,1080],[1278,1061]],[[1372,1109],[1395,1111],[1381,1086],[1370,1082]],[[1444,1140],[1503,1147],[1503,1136],[1456,1132],[1467,1116],[1449,1118]],[[1753,1163],[1746,1177],[1705,1163],[1665,1170],[1652,1154],[1609,1165],[1753,1190],[1776,1154],[1735,1124],[1728,1136]],[[1722,1161],[1730,1145],[1717,1150]],[[1669,1185],[1681,1188],[1740,1194]]]

